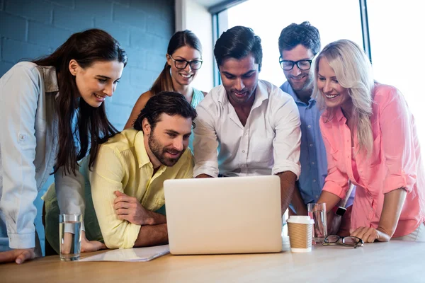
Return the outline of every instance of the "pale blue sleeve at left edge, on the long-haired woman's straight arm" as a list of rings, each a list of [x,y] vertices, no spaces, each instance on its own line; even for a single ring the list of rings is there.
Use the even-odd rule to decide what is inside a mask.
[[[10,248],[35,246],[35,113],[40,80],[35,67],[23,65],[13,67],[1,79],[0,209],[6,219]]]

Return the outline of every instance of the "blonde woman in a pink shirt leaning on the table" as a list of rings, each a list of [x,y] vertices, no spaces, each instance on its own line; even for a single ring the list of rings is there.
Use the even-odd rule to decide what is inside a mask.
[[[425,179],[416,123],[401,93],[373,80],[358,45],[339,40],[317,57],[314,96],[328,175],[318,202],[330,210],[357,186],[351,236],[425,241]]]

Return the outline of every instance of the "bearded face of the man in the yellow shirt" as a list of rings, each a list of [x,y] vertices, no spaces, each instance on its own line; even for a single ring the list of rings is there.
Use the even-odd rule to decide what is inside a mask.
[[[147,136],[145,147],[154,168],[161,164],[174,166],[186,150],[192,130],[192,119],[180,115],[162,113],[152,129],[147,119],[143,120],[143,132]]]

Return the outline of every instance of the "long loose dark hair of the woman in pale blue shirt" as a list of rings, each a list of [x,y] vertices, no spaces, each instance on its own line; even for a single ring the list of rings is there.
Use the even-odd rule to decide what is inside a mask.
[[[54,66],[59,74],[60,95],[56,99],[59,120],[59,149],[55,172],[64,166],[64,173],[75,174],[77,161],[86,156],[90,148],[89,166],[92,166],[98,144],[113,137],[118,130],[106,117],[105,103],[100,107],[91,107],[83,98],[75,82],[75,76],[69,71],[69,62],[75,59],[82,68],[91,67],[98,61],[118,60],[127,64],[127,54],[111,35],[103,30],[91,29],[74,33],[52,54],[33,61],[39,66]],[[74,117],[77,114],[77,121]],[[79,144],[76,144],[76,141]]]

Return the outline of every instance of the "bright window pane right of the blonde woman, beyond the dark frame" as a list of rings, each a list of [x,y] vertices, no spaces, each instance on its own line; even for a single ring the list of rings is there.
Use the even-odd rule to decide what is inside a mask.
[[[380,83],[399,89],[416,120],[419,141],[425,146],[425,57],[421,45],[425,23],[420,1],[368,1],[370,51],[373,72]],[[385,13],[382,12],[385,6]]]

